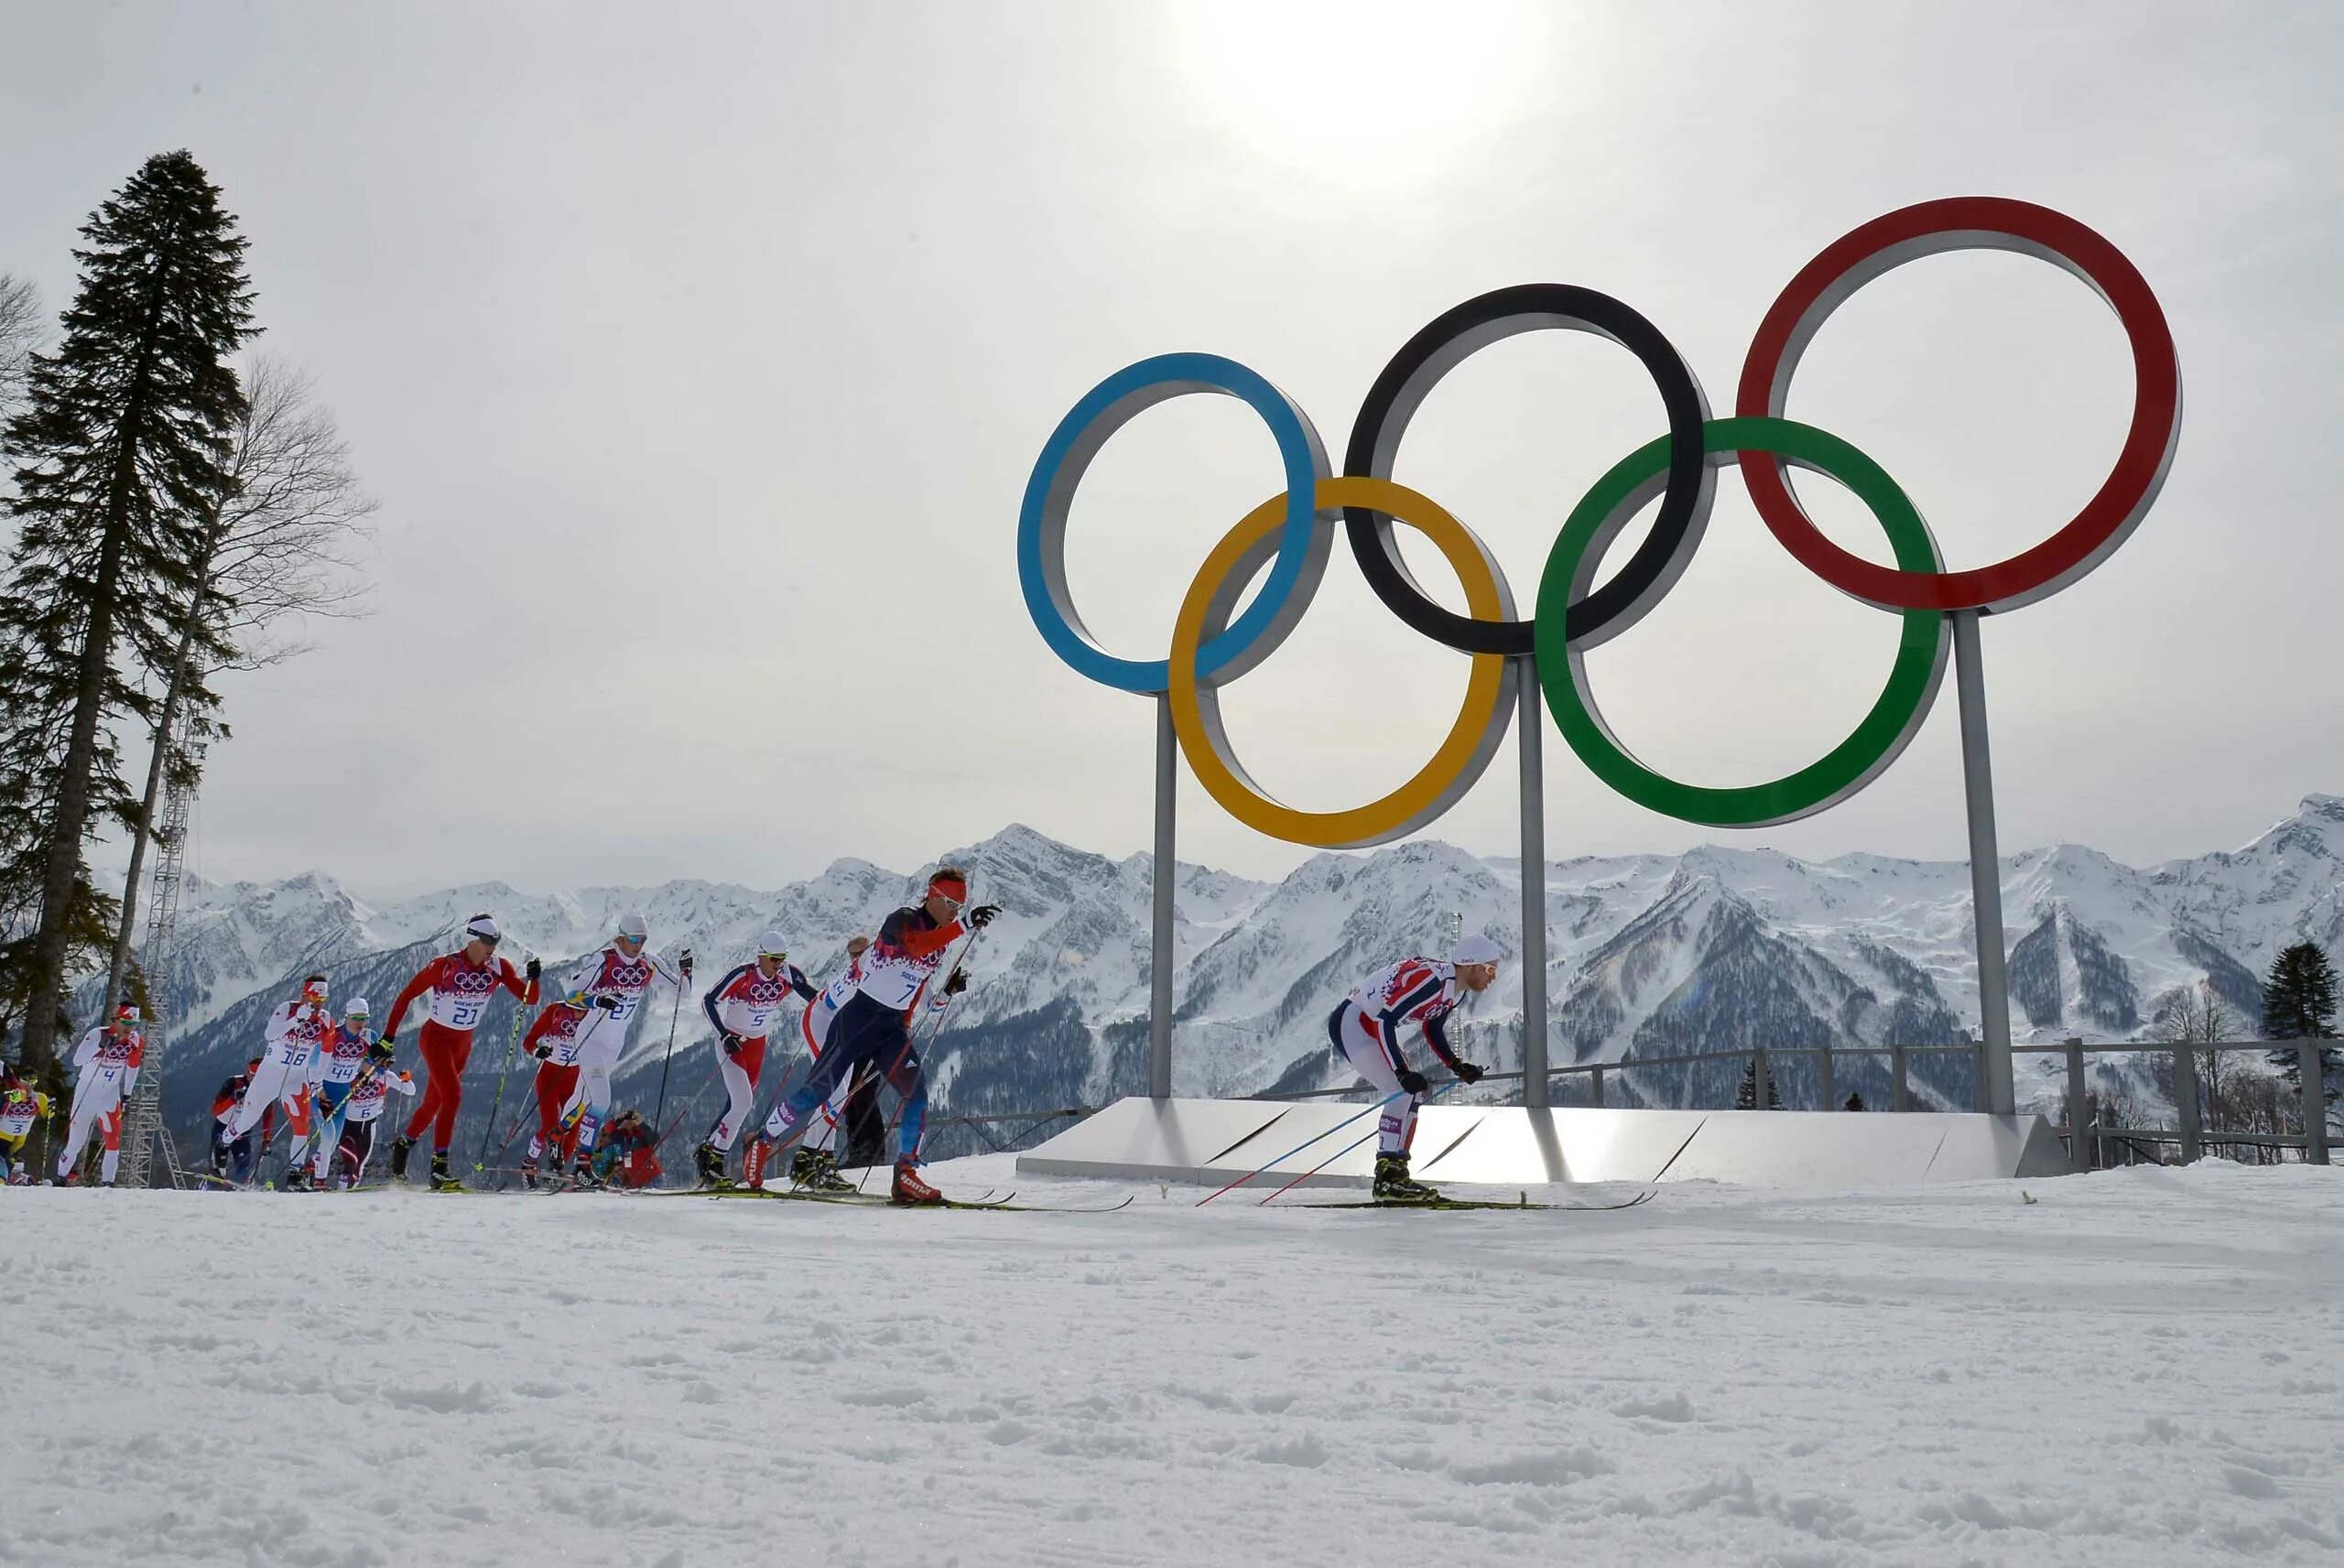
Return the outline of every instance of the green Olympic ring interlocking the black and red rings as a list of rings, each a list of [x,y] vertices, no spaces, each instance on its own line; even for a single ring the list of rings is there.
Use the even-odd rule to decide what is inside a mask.
[[[1702,424],[1702,452],[1711,466],[1744,452],[1772,452],[1784,462],[1824,473],[1852,490],[1889,537],[1901,572],[1936,574],[1946,565],[1929,525],[1906,492],[1871,457],[1828,431],[1796,420],[1739,417]],[[1669,436],[1620,459],[1580,499],[1547,551],[1538,579],[1538,682],[1563,741],[1596,778],[1620,795],[1667,816],[1709,827],[1770,827],[1833,806],[1882,773],[1913,741],[1946,673],[1946,616],[1936,609],[1903,609],[1896,663],[1863,722],[1819,762],[1760,785],[1688,785],[1636,762],[1613,736],[1587,684],[1580,649],[1570,645],[1570,605],[1587,598],[1603,551],[1669,478]],[[1566,675],[1568,670],[1568,675]]]

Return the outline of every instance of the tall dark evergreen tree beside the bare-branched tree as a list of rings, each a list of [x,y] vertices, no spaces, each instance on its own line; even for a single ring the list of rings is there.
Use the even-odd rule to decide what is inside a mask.
[[[26,998],[23,1057],[54,1055],[68,963],[84,945],[89,837],[134,802],[113,729],[157,717],[150,691],[178,652],[202,518],[225,476],[244,391],[227,363],[253,338],[244,239],[188,152],[159,152],[82,227],[73,307],[33,359],[9,420],[16,548],[0,588],[0,893],[30,912],[12,930]],[[103,921],[101,921],[103,928]]]

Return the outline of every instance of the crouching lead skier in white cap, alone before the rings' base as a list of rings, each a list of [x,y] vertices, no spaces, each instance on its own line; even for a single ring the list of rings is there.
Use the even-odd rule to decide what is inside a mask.
[[[1442,1027],[1465,991],[1486,991],[1498,980],[1498,945],[1479,930],[1458,940],[1449,961],[1402,959],[1388,963],[1338,1001],[1327,1015],[1327,1038],[1338,1057],[1385,1095],[1383,1120],[1376,1125],[1376,1188],[1385,1202],[1435,1202],[1439,1193],[1409,1177],[1409,1139],[1416,1137],[1416,1109],[1425,1104],[1425,1076],[1399,1052],[1399,1031],[1416,1024],[1425,1045],[1451,1073],[1477,1083],[1481,1069],[1460,1062],[1449,1050]],[[1399,1097],[1406,1099],[1399,1099]],[[1392,1106],[1399,1099],[1399,1106]]]

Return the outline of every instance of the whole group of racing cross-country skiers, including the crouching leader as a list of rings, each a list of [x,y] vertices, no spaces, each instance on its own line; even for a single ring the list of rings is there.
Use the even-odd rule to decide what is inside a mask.
[[[935,987],[938,994],[928,996],[952,945],[984,930],[996,914],[996,905],[968,907],[966,872],[938,867],[917,905],[888,914],[877,938],[853,938],[846,945],[846,970],[825,989],[816,989],[790,963],[778,930],[764,933],[757,954],[701,996],[701,1010],[715,1029],[727,1102],[696,1148],[699,1181],[731,1186],[727,1160],[755,1116],[766,1048],[785,1003],[799,998],[799,1036],[813,1066],[774,1104],[762,1132],[750,1137],[741,1155],[741,1184],[762,1186],[771,1158],[795,1144],[792,1186],[849,1188],[837,1158],[841,1102],[858,1085],[886,1083],[900,1102],[891,1198],[905,1205],[940,1202],[942,1195],[919,1174],[928,1088],[912,1022],[924,1001],[942,1008],[966,989],[968,977],[954,966]],[[462,1073],[471,1059],[473,1031],[499,989],[511,991],[523,1008],[537,1005],[541,977],[537,959],[516,968],[497,956],[504,933],[495,916],[476,914],[462,938],[455,952],[431,959],[398,991],[380,1034],[370,1027],[366,998],[349,1001],[335,1015],[326,975],[305,977],[300,996],[270,1013],[263,1055],[220,1085],[213,1102],[213,1177],[248,1181],[255,1170],[253,1139],[258,1134],[265,1148],[274,1113],[284,1109],[293,1134],[284,1186],[356,1186],[373,1158],[382,1109],[391,1095],[403,1095],[417,1104],[391,1141],[391,1179],[406,1179],[410,1153],[429,1132],[431,1188],[462,1191],[450,1167],[450,1141],[464,1102]],[[649,989],[661,984],[682,996],[694,963],[689,947],[668,963],[647,942],[642,914],[621,914],[612,940],[563,980],[560,994],[523,1036],[537,1062],[537,1127],[520,1165],[523,1181],[532,1188],[605,1186],[614,1179],[638,1186],[659,1174],[656,1146],[663,1132],[633,1111],[612,1116],[612,1071],[619,1066],[628,1022]],[[1449,959],[1402,959],[1376,970],[1327,1017],[1327,1041],[1336,1057],[1385,1095],[1374,1177],[1374,1195],[1381,1200],[1437,1198],[1409,1174],[1416,1111],[1430,1085],[1402,1055],[1399,1034],[1413,1024],[1460,1083],[1479,1080],[1481,1069],[1451,1050],[1444,1020],[1467,994],[1488,989],[1498,977],[1498,945],[1486,935],[1463,935]],[[424,1008],[415,1036],[424,1073],[420,1097],[410,1073],[396,1069],[398,1024],[415,1005]],[[68,1179],[91,1137],[103,1141],[101,1179],[115,1181],[122,1109],[141,1059],[136,1008],[122,1008],[113,1022],[82,1038],[73,1057],[80,1083],[56,1181]],[[0,1078],[0,1165],[14,1167],[26,1132],[47,1113],[47,1099],[30,1085],[14,1076]]]

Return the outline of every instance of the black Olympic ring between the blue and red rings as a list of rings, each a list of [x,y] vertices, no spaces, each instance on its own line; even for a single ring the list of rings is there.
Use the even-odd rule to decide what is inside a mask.
[[[1709,398],[1702,396],[1702,382],[1676,345],[1631,305],[1575,284],[1517,284],[1442,312],[1402,345],[1367,389],[1360,420],[1350,427],[1343,471],[1392,478],[1399,438],[1409,434],[1409,420],[1439,380],[1477,349],[1540,328],[1594,333],[1617,342],[1643,361],[1669,413],[1669,478],[1653,532],[1608,584],[1570,607],[1570,642],[1596,647],[1634,626],[1685,574],[1709,527],[1718,488],[1716,469],[1704,457],[1702,427],[1709,422]],[[1519,659],[1533,652],[1535,621],[1477,621],[1435,605],[1399,560],[1392,518],[1367,506],[1345,506],[1343,523],[1350,532],[1350,553],[1360,558],[1360,574],[1395,616],[1463,654]]]

